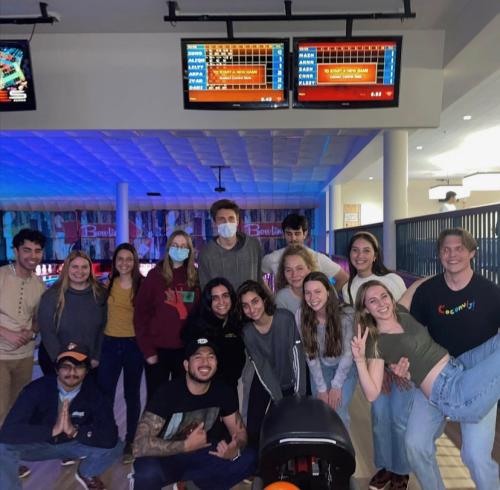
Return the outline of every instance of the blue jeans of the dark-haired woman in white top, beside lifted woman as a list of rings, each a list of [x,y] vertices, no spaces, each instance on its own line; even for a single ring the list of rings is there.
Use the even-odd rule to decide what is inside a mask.
[[[377,469],[398,475],[410,473],[406,456],[405,434],[415,388],[400,390],[391,383],[391,392],[381,394],[371,406],[373,454]]]

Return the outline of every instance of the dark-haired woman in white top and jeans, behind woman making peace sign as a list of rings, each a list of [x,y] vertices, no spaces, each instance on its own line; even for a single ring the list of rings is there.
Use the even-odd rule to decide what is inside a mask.
[[[400,276],[385,265],[377,238],[367,231],[354,234],[347,246],[349,281],[342,288],[346,303],[354,305],[360,286],[371,280],[385,284],[398,301],[406,291]],[[371,404],[373,456],[377,473],[369,488],[406,488],[410,465],[406,457],[405,433],[413,403],[414,388],[406,380],[386,370],[382,395]]]

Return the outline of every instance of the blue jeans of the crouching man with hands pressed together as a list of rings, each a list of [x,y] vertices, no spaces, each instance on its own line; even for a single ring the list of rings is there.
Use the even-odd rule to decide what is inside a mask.
[[[0,488],[20,490],[19,460],[45,461],[48,459],[79,459],[85,456],[78,471],[86,478],[104,473],[121,455],[123,443],[113,448],[92,447],[77,441],[63,444],[34,442],[26,444],[0,444]]]

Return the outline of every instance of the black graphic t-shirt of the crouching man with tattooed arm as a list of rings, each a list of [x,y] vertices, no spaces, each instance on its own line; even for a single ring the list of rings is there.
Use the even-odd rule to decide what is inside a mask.
[[[234,390],[219,380],[213,380],[204,395],[193,395],[183,376],[162,385],[146,410],[165,419],[158,437],[181,441],[204,422],[208,442],[219,442],[227,436],[221,417],[238,410],[238,398]]]

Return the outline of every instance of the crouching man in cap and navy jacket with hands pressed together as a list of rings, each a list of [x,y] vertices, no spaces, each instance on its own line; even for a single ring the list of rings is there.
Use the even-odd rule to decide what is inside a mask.
[[[105,490],[98,475],[120,456],[113,409],[91,377],[84,349],[70,344],[57,356],[57,377],[27,385],[0,430],[0,488],[21,489],[19,460],[79,459],[76,480]]]

